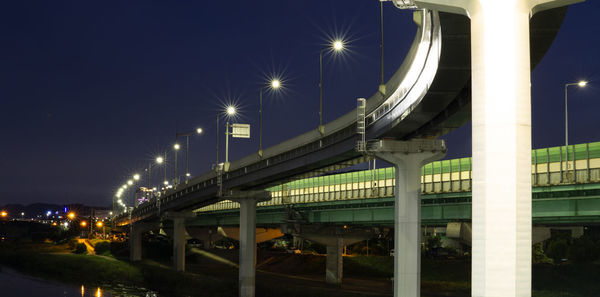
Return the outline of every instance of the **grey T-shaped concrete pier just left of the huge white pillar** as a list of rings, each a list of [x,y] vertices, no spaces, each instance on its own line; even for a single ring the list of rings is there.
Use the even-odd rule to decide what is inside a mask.
[[[442,140],[371,143],[367,151],[396,167],[394,296],[421,296],[421,167],[442,158]]]

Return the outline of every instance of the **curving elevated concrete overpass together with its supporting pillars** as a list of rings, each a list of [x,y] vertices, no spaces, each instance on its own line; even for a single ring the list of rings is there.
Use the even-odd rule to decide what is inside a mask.
[[[530,69],[542,59],[560,28],[566,12],[560,6],[577,1],[515,0],[518,4],[507,5],[495,0],[472,1],[476,4],[467,5],[470,1],[462,0],[394,0],[399,8],[415,10],[417,31],[396,73],[364,101],[361,117],[357,118],[357,110],[350,111],[327,123],[324,129],[319,127],[267,148],[262,155],[254,153],[217,166],[217,171],[208,171],[118,215],[115,222],[131,228],[131,260],[141,258],[141,234],[160,220],[169,219],[173,221],[174,266],[184,270],[185,226],[187,220],[197,216],[193,211],[235,200],[240,204],[240,296],[254,296],[256,204],[270,198],[265,189],[379,158],[395,167],[393,185],[388,185],[387,178],[384,186],[369,183],[371,193],[376,195],[395,186],[395,246],[403,252],[396,253],[394,260],[394,295],[419,296],[420,264],[414,259],[420,253],[420,168],[445,152],[445,144],[434,138],[472,118],[473,250],[483,255],[473,260],[473,271],[478,271],[474,273],[474,292],[490,289],[496,290],[497,296],[498,292],[521,296],[515,292],[530,291],[530,267],[524,261],[527,257],[523,257],[531,254],[531,183],[527,168],[531,148]],[[452,172],[441,173],[439,186],[446,183],[453,189],[467,189],[471,181],[463,178],[462,168],[454,171],[453,166]],[[424,176],[426,191],[428,178],[433,178],[430,186],[436,187],[436,169],[432,170],[433,174]],[[496,179],[491,173],[497,175]],[[445,174],[451,180],[445,181]],[[459,185],[455,185],[456,174]],[[365,181],[357,183],[360,187]],[[329,197],[336,195],[336,186],[341,189],[342,184],[333,185]],[[331,185],[328,187],[331,190]],[[363,190],[367,192],[364,186]],[[342,195],[341,190],[337,192]],[[348,192],[345,190],[344,195]],[[502,193],[506,196],[500,205],[494,197]],[[315,194],[325,197],[325,192],[312,194],[315,198]],[[283,204],[285,199],[293,199],[291,196],[282,189],[275,201],[279,199]],[[502,207],[496,208],[498,205]],[[500,216],[507,224],[488,222]],[[485,230],[494,228],[497,232],[492,233],[502,235],[498,242],[485,236]],[[337,259],[327,272],[328,282],[334,284],[341,281],[338,268],[342,245],[340,239],[328,245],[328,255]],[[514,261],[496,263],[498,257],[486,247],[497,247],[509,253],[506,259]],[[485,270],[492,266],[498,269]],[[510,277],[505,277],[503,271],[511,271]],[[495,273],[502,276],[493,277]],[[488,281],[498,286],[486,286]]]

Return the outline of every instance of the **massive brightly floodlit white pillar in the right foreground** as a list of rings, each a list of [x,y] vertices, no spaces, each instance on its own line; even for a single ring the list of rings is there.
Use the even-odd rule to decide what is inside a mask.
[[[531,296],[529,19],[576,2],[414,0],[471,18],[472,296]]]

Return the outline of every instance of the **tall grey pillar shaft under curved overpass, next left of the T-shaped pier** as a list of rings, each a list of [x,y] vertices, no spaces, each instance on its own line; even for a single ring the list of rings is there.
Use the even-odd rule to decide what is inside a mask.
[[[240,297],[254,297],[256,280],[256,199],[240,203]]]

